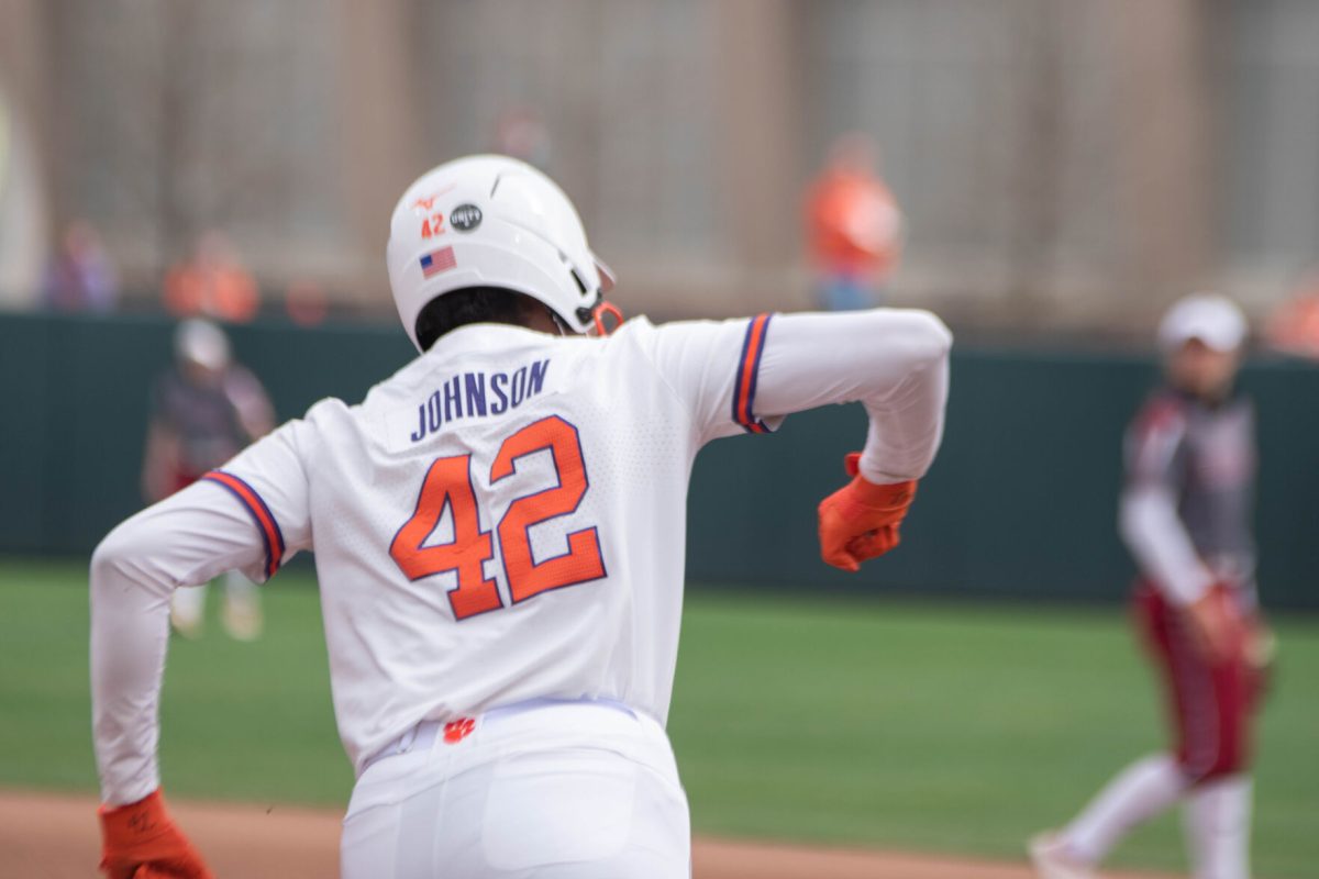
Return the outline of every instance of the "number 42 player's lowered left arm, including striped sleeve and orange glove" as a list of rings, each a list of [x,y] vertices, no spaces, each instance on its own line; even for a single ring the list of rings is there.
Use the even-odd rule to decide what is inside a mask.
[[[299,422],[290,422],[227,469],[142,510],[92,553],[92,739],[102,868],[112,878],[211,875],[160,792],[156,742],[170,597],[226,571],[264,581],[293,551],[310,547],[298,430]]]

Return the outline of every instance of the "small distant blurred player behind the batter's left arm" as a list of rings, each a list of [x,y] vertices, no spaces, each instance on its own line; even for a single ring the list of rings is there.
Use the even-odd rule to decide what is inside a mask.
[[[156,383],[142,463],[142,494],[156,503],[187,488],[270,432],[274,409],[249,370],[232,362],[224,331],[202,319],[174,333],[174,366]],[[170,621],[179,634],[202,631],[206,586],[178,589]],[[261,634],[257,586],[236,571],[226,575],[226,631],[239,640]]]

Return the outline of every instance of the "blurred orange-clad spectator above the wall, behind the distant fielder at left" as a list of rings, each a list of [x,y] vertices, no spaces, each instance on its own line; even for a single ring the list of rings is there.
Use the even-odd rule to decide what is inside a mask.
[[[252,274],[228,237],[212,229],[198,239],[191,260],[165,275],[165,308],[175,318],[218,318],[247,323],[261,306]]]

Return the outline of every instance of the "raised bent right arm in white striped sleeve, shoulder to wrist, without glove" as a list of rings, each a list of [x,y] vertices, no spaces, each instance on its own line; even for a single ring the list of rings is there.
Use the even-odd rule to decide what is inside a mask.
[[[934,315],[894,308],[681,322],[644,340],[702,441],[764,434],[828,403],[863,403],[871,430],[861,472],[874,482],[923,476],[934,459],[951,343]]]

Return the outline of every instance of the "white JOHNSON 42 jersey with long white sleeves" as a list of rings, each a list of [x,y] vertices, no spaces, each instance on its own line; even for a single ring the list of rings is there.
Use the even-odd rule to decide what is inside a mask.
[[[700,447],[861,401],[863,473],[919,477],[942,432],[947,347],[936,319],[905,311],[640,319],[607,339],[477,324],[359,406],[317,403],[98,550],[106,801],[158,783],[154,608],[228,567],[265,580],[299,550],[315,551],[335,714],[359,772],[419,721],[532,698],[607,698],[663,723]],[[132,601],[156,629],[125,637],[150,615]]]

